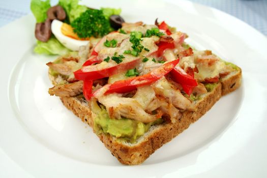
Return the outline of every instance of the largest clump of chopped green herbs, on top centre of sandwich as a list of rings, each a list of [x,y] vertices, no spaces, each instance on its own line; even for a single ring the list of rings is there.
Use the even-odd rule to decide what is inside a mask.
[[[138,56],[138,54],[143,50],[144,46],[141,45],[140,41],[142,38],[141,32],[131,32],[130,35],[130,42],[133,44],[131,47],[133,50],[131,51],[131,54],[133,56]]]

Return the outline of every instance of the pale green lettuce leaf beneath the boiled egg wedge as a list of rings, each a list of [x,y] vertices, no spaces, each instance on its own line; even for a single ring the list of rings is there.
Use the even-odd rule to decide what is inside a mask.
[[[59,54],[64,55],[70,52],[65,46],[63,46],[57,39],[52,36],[47,42],[37,41],[37,45],[34,48],[34,52],[38,54]]]

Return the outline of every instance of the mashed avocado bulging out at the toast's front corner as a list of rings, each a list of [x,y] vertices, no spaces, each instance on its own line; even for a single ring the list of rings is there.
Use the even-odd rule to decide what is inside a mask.
[[[94,119],[94,130],[97,134],[108,133],[114,137],[122,138],[122,140],[135,142],[136,139],[149,130],[152,125],[162,122],[163,120],[161,118],[146,124],[128,118],[117,120],[109,118],[106,109],[102,108]]]

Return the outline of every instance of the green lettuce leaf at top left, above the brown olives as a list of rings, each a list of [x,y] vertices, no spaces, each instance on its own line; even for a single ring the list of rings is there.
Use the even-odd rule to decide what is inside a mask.
[[[50,0],[32,0],[31,1],[31,11],[33,12],[37,23],[44,22],[46,19],[46,12],[50,8]]]

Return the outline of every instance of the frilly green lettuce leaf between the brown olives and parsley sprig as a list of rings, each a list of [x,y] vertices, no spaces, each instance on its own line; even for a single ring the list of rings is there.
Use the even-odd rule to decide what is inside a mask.
[[[58,2],[58,5],[66,11],[70,23],[88,9],[86,6],[78,5],[78,3],[79,0],[60,0]]]

